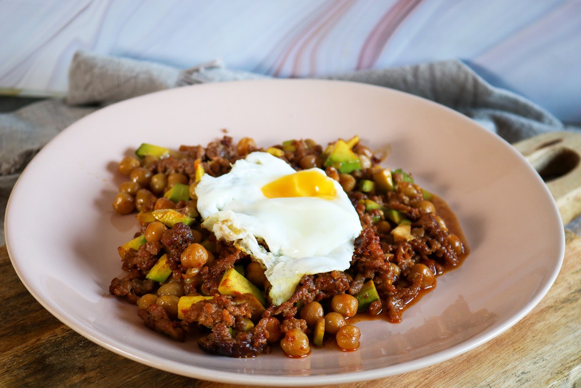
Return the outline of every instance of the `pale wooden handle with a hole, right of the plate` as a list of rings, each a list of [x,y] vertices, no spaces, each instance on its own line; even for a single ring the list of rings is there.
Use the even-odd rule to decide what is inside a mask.
[[[581,133],[550,132],[514,144],[553,194],[563,224],[581,215]]]

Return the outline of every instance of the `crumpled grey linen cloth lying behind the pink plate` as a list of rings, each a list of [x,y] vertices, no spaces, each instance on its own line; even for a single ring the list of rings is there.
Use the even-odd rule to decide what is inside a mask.
[[[19,174],[56,134],[76,120],[123,99],[185,85],[264,78],[225,68],[217,60],[190,69],[88,52],[74,55],[64,99],[37,102],[0,114],[0,220]],[[510,143],[566,127],[527,99],[486,83],[460,60],[321,77],[401,90],[449,106]],[[578,218],[568,229],[580,234]],[[5,243],[0,225],[0,245]]]

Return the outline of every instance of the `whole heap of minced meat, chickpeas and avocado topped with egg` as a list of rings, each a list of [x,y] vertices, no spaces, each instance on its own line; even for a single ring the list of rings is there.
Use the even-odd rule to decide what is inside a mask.
[[[268,148],[224,136],[135,154],[119,163],[128,180],[113,208],[137,213],[139,231],[119,247],[128,274],[110,292],[208,353],[356,350],[354,316],[400,322],[467,254],[446,204],[357,136]]]

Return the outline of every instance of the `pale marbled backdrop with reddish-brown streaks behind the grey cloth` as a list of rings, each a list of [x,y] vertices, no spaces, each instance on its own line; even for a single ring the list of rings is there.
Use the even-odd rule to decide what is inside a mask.
[[[579,0],[0,0],[0,91],[59,94],[78,49],[307,77],[460,58],[581,122]]]

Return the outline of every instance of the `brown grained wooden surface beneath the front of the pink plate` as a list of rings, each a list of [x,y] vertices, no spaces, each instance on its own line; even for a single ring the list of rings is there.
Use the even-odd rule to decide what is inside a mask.
[[[336,385],[379,388],[581,386],[581,238],[566,232],[554,286],[514,327],[463,355],[416,372]],[[24,288],[0,247],[0,386],[225,388],[123,358],[80,336]]]

